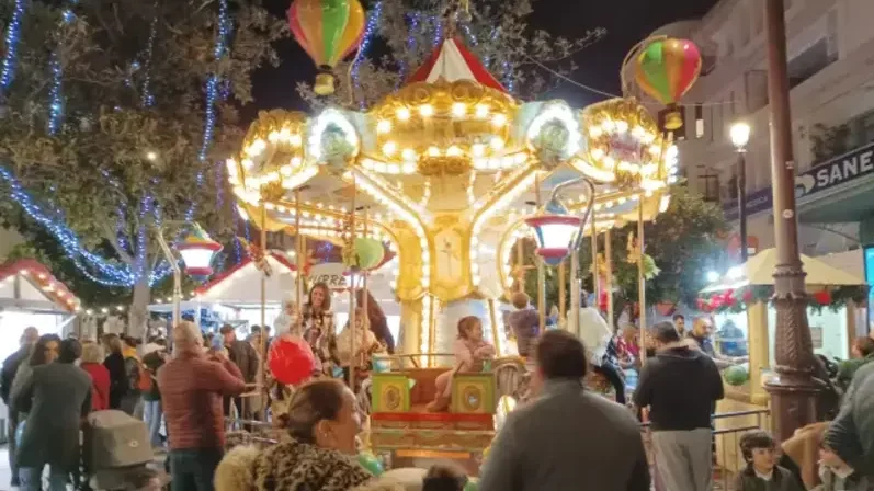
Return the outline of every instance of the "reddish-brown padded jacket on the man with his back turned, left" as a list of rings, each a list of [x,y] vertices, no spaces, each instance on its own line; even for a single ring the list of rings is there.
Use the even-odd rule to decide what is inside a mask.
[[[222,396],[246,391],[242,374],[234,363],[182,354],[158,369],[158,387],[171,449],[225,447]]]

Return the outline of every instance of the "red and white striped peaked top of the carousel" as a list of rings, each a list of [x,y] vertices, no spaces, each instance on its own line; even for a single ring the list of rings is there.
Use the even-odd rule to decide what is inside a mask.
[[[424,65],[410,77],[409,83],[434,83],[443,79],[447,82],[469,80],[481,85],[507,93],[507,89],[489,73],[486,67],[458,39],[445,39],[428,57]]]

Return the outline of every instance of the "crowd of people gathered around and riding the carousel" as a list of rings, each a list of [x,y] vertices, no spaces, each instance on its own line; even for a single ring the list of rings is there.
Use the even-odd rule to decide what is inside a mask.
[[[378,304],[366,304],[355,326],[339,333],[330,292],[321,284],[300,309],[284,306],[275,336],[266,326],[238,339],[230,326],[209,334],[188,321],[171,330],[170,343],[115,334],[80,342],[26,329],[0,374],[13,435],[12,484],[39,490],[46,467],[50,490],[76,482],[82,419],[114,409],[146,422],[152,447],[168,453],[174,490],[463,490],[468,479],[450,464],[377,477],[355,460],[366,416],[350,375],[366,372],[374,353],[394,351]],[[509,414],[493,441],[479,490],[712,489],[712,418],[724,397],[719,369],[744,358],[714,350],[707,319],[695,319],[686,330],[685,319],[674,316],[649,328],[640,346],[634,323],[621,322],[614,333],[602,312],[584,304],[575,315],[579,322],[544,332],[524,294],[512,304],[508,329],[529,361],[531,398]],[[279,442],[226,453],[228,418],[265,415],[265,356],[282,342],[305,345],[314,362],[309,380],[293,387],[282,414],[273,414]],[[435,381],[429,411],[449,408],[455,374],[488,369],[496,351],[480,319],[459,320],[454,353],[454,366]],[[853,354],[838,370],[845,395],[833,422],[802,429],[782,444],[761,431],[740,438],[748,465],[736,490],[874,490],[874,342],[855,340]],[[586,388],[589,370],[615,386],[618,403]],[[627,401],[626,370],[639,375]]]

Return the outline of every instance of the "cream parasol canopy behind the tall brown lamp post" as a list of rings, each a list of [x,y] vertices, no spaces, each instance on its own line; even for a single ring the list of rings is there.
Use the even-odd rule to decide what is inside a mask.
[[[777,263],[776,249],[765,249],[749,259],[746,263],[734,267],[726,276],[708,286],[704,292],[718,292],[744,286],[774,285],[774,267]],[[805,285],[819,286],[859,286],[865,281],[848,272],[832,267],[815,258],[802,254]]]

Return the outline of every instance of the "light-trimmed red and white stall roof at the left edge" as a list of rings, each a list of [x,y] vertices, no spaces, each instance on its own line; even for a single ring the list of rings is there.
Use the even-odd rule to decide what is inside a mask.
[[[23,259],[0,265],[0,307],[76,312],[79,299],[37,261]]]

